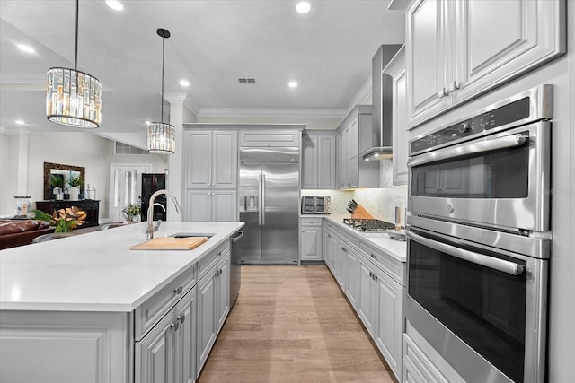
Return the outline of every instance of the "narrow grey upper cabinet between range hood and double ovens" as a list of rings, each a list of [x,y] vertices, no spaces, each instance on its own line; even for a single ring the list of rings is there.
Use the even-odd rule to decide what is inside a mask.
[[[394,185],[407,185],[407,79],[405,73],[405,47],[402,47],[390,63],[385,66],[384,74],[392,78],[392,125],[394,128]]]

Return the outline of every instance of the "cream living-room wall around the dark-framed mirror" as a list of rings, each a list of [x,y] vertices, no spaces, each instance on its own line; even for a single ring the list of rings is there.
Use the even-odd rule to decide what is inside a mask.
[[[165,155],[114,155],[114,142],[86,132],[0,134],[0,216],[13,215],[13,195],[43,200],[44,162],[82,166],[85,183],[96,189],[100,218],[108,216],[110,163],[150,163],[152,171],[167,168]],[[19,161],[22,157],[22,161]],[[22,167],[22,163],[26,163]],[[20,179],[18,182],[8,181]]]

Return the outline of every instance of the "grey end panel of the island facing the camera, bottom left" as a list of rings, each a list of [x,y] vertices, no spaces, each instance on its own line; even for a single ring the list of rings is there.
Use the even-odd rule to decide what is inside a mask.
[[[125,313],[0,311],[0,381],[128,382],[128,327]]]

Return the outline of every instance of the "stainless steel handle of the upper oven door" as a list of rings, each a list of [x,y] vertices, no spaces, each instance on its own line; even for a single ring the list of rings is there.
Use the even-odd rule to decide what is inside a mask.
[[[525,135],[505,135],[503,137],[493,138],[491,140],[461,144],[457,145],[456,147],[438,150],[437,152],[429,152],[426,154],[418,155],[417,157],[411,157],[407,161],[407,166],[411,168],[413,166],[423,165],[424,163],[442,161],[469,154],[491,152],[498,149],[517,147],[521,146],[525,142]]]

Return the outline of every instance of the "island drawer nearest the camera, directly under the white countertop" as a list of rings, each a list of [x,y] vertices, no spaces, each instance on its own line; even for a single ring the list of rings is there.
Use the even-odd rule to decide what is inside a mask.
[[[164,317],[165,313],[172,309],[173,305],[191,290],[197,282],[197,275],[196,265],[191,266],[136,309],[134,316],[134,337],[136,341],[142,339]]]

